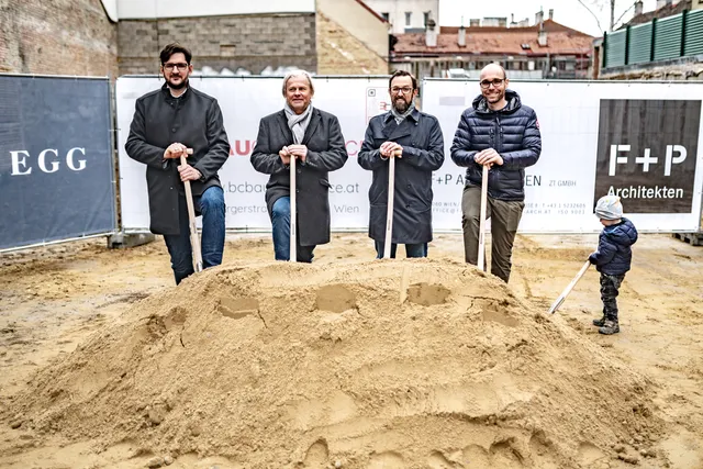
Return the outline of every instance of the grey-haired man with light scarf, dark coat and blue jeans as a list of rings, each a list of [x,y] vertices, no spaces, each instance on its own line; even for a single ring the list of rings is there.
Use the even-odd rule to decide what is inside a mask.
[[[283,79],[286,104],[259,123],[252,153],[254,169],[270,175],[266,205],[271,217],[276,260],[290,260],[290,159],[295,158],[297,245],[299,263],[311,263],[319,244],[330,243],[328,172],[348,155],[339,121],[313,108],[310,74],[291,71]]]

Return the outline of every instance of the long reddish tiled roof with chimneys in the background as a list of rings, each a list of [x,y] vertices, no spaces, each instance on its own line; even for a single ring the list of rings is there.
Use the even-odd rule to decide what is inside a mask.
[[[547,32],[547,45],[540,47],[537,42],[539,26],[528,27],[467,27],[466,46],[457,44],[458,27],[442,27],[437,35],[437,46],[425,45],[424,33],[395,34],[398,43],[392,55],[590,55],[593,48],[593,37],[551,20],[544,22]],[[451,31],[451,33],[447,33]],[[524,49],[523,44],[529,48]]]

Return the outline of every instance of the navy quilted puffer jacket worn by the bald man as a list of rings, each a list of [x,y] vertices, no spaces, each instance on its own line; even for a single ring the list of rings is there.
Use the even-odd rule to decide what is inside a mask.
[[[488,177],[488,194],[506,201],[525,200],[525,168],[537,163],[542,153],[542,136],[537,114],[523,105],[520,96],[505,91],[507,105],[491,111],[486,98],[479,96],[473,107],[461,114],[459,127],[451,144],[451,159],[466,170],[467,186],[481,186],[482,167],[473,155],[493,148],[503,158],[503,165],[493,165]]]

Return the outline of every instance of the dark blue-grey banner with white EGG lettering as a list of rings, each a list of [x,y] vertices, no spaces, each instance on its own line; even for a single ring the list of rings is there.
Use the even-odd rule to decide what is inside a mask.
[[[108,79],[0,75],[0,249],[116,230]]]

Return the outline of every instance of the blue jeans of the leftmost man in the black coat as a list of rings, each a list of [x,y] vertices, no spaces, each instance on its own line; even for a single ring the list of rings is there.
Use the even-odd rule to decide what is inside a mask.
[[[176,277],[176,284],[193,273],[193,250],[190,245],[190,226],[188,222],[188,205],[186,198],[178,198],[178,223],[180,234],[164,235],[168,254],[171,255],[171,268]],[[202,196],[193,196],[196,214],[202,214],[202,239],[200,250],[202,267],[222,264],[224,250],[224,192],[217,186],[205,189]]]

